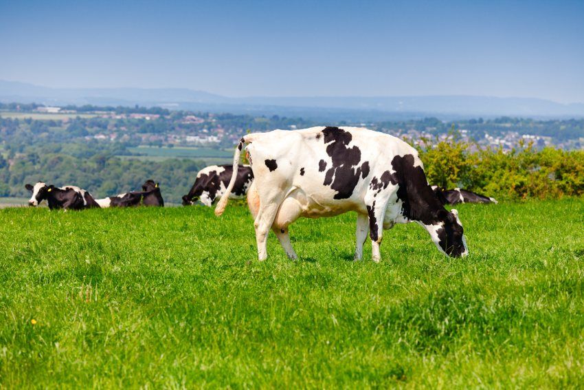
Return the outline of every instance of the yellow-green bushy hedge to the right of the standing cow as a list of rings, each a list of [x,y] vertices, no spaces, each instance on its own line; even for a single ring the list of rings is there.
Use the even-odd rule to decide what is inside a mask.
[[[537,150],[532,143],[521,143],[511,151],[480,149],[456,135],[424,139],[418,151],[430,184],[459,186],[501,199],[555,199],[584,193],[584,151]]]

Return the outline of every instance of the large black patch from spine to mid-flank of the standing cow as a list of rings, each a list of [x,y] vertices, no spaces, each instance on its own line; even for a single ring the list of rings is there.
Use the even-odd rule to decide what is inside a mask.
[[[326,154],[333,160],[333,165],[326,171],[323,184],[337,191],[334,199],[347,199],[359,182],[361,167],[355,166],[361,162],[361,150],[356,146],[348,147],[352,140],[348,131],[338,127],[326,127],[322,133],[324,143],[328,144]]]

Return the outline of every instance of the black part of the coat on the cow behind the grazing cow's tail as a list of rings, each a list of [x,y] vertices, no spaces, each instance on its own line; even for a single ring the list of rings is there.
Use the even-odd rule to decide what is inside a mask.
[[[214,202],[217,192],[221,190],[221,183],[225,187],[229,185],[229,180],[233,175],[233,166],[232,165],[220,165],[217,166],[218,170],[223,168],[223,172],[217,173],[217,171],[210,171],[209,173],[204,173],[202,175],[198,175],[190,191],[187,195],[183,196],[183,205],[189,206],[193,204],[203,192],[207,192],[211,199],[211,202]],[[235,179],[235,184],[233,186],[232,194],[243,196],[247,193],[247,187],[249,187],[249,183],[254,180],[254,172],[251,171],[251,167],[239,165],[237,169],[237,177]]]

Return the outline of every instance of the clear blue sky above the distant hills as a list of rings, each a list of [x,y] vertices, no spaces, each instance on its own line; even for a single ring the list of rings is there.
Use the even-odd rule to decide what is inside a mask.
[[[0,79],[584,102],[584,0],[0,0]]]

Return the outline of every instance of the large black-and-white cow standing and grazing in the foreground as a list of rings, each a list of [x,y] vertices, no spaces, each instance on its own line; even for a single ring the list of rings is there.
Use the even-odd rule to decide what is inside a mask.
[[[369,232],[372,259],[379,261],[383,229],[407,222],[423,226],[449,256],[469,252],[458,212],[440,204],[416,149],[398,138],[355,127],[251,133],[236,148],[234,173],[244,144],[255,177],[247,203],[255,218],[260,260],[267,257],[270,228],[288,257],[295,259],[288,235],[293,221],[348,211],[357,212],[355,259],[361,259]],[[235,177],[217,204],[216,215],[225,210]]]

